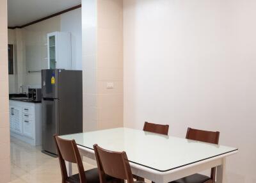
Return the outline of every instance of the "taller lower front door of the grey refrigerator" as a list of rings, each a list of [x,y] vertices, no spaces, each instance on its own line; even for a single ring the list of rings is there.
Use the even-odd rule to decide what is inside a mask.
[[[42,148],[46,152],[57,154],[53,135],[59,134],[58,99],[43,99],[42,110]]]

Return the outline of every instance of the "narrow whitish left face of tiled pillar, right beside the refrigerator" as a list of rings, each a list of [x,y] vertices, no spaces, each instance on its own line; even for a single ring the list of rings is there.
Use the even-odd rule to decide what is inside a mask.
[[[97,129],[97,1],[82,1],[83,130]]]

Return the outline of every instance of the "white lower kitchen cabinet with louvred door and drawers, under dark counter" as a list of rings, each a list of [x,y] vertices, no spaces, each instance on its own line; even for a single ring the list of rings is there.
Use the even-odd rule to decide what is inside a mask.
[[[10,100],[10,134],[31,145],[41,145],[42,104]]]

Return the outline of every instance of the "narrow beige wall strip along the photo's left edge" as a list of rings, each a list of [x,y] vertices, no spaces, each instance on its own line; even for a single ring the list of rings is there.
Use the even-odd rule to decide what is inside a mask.
[[[0,182],[10,181],[7,1],[0,1]]]

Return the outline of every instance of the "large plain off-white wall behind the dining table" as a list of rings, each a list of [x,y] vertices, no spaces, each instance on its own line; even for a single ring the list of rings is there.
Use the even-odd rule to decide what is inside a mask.
[[[124,0],[124,125],[220,131],[229,183],[256,182],[256,1]]]

